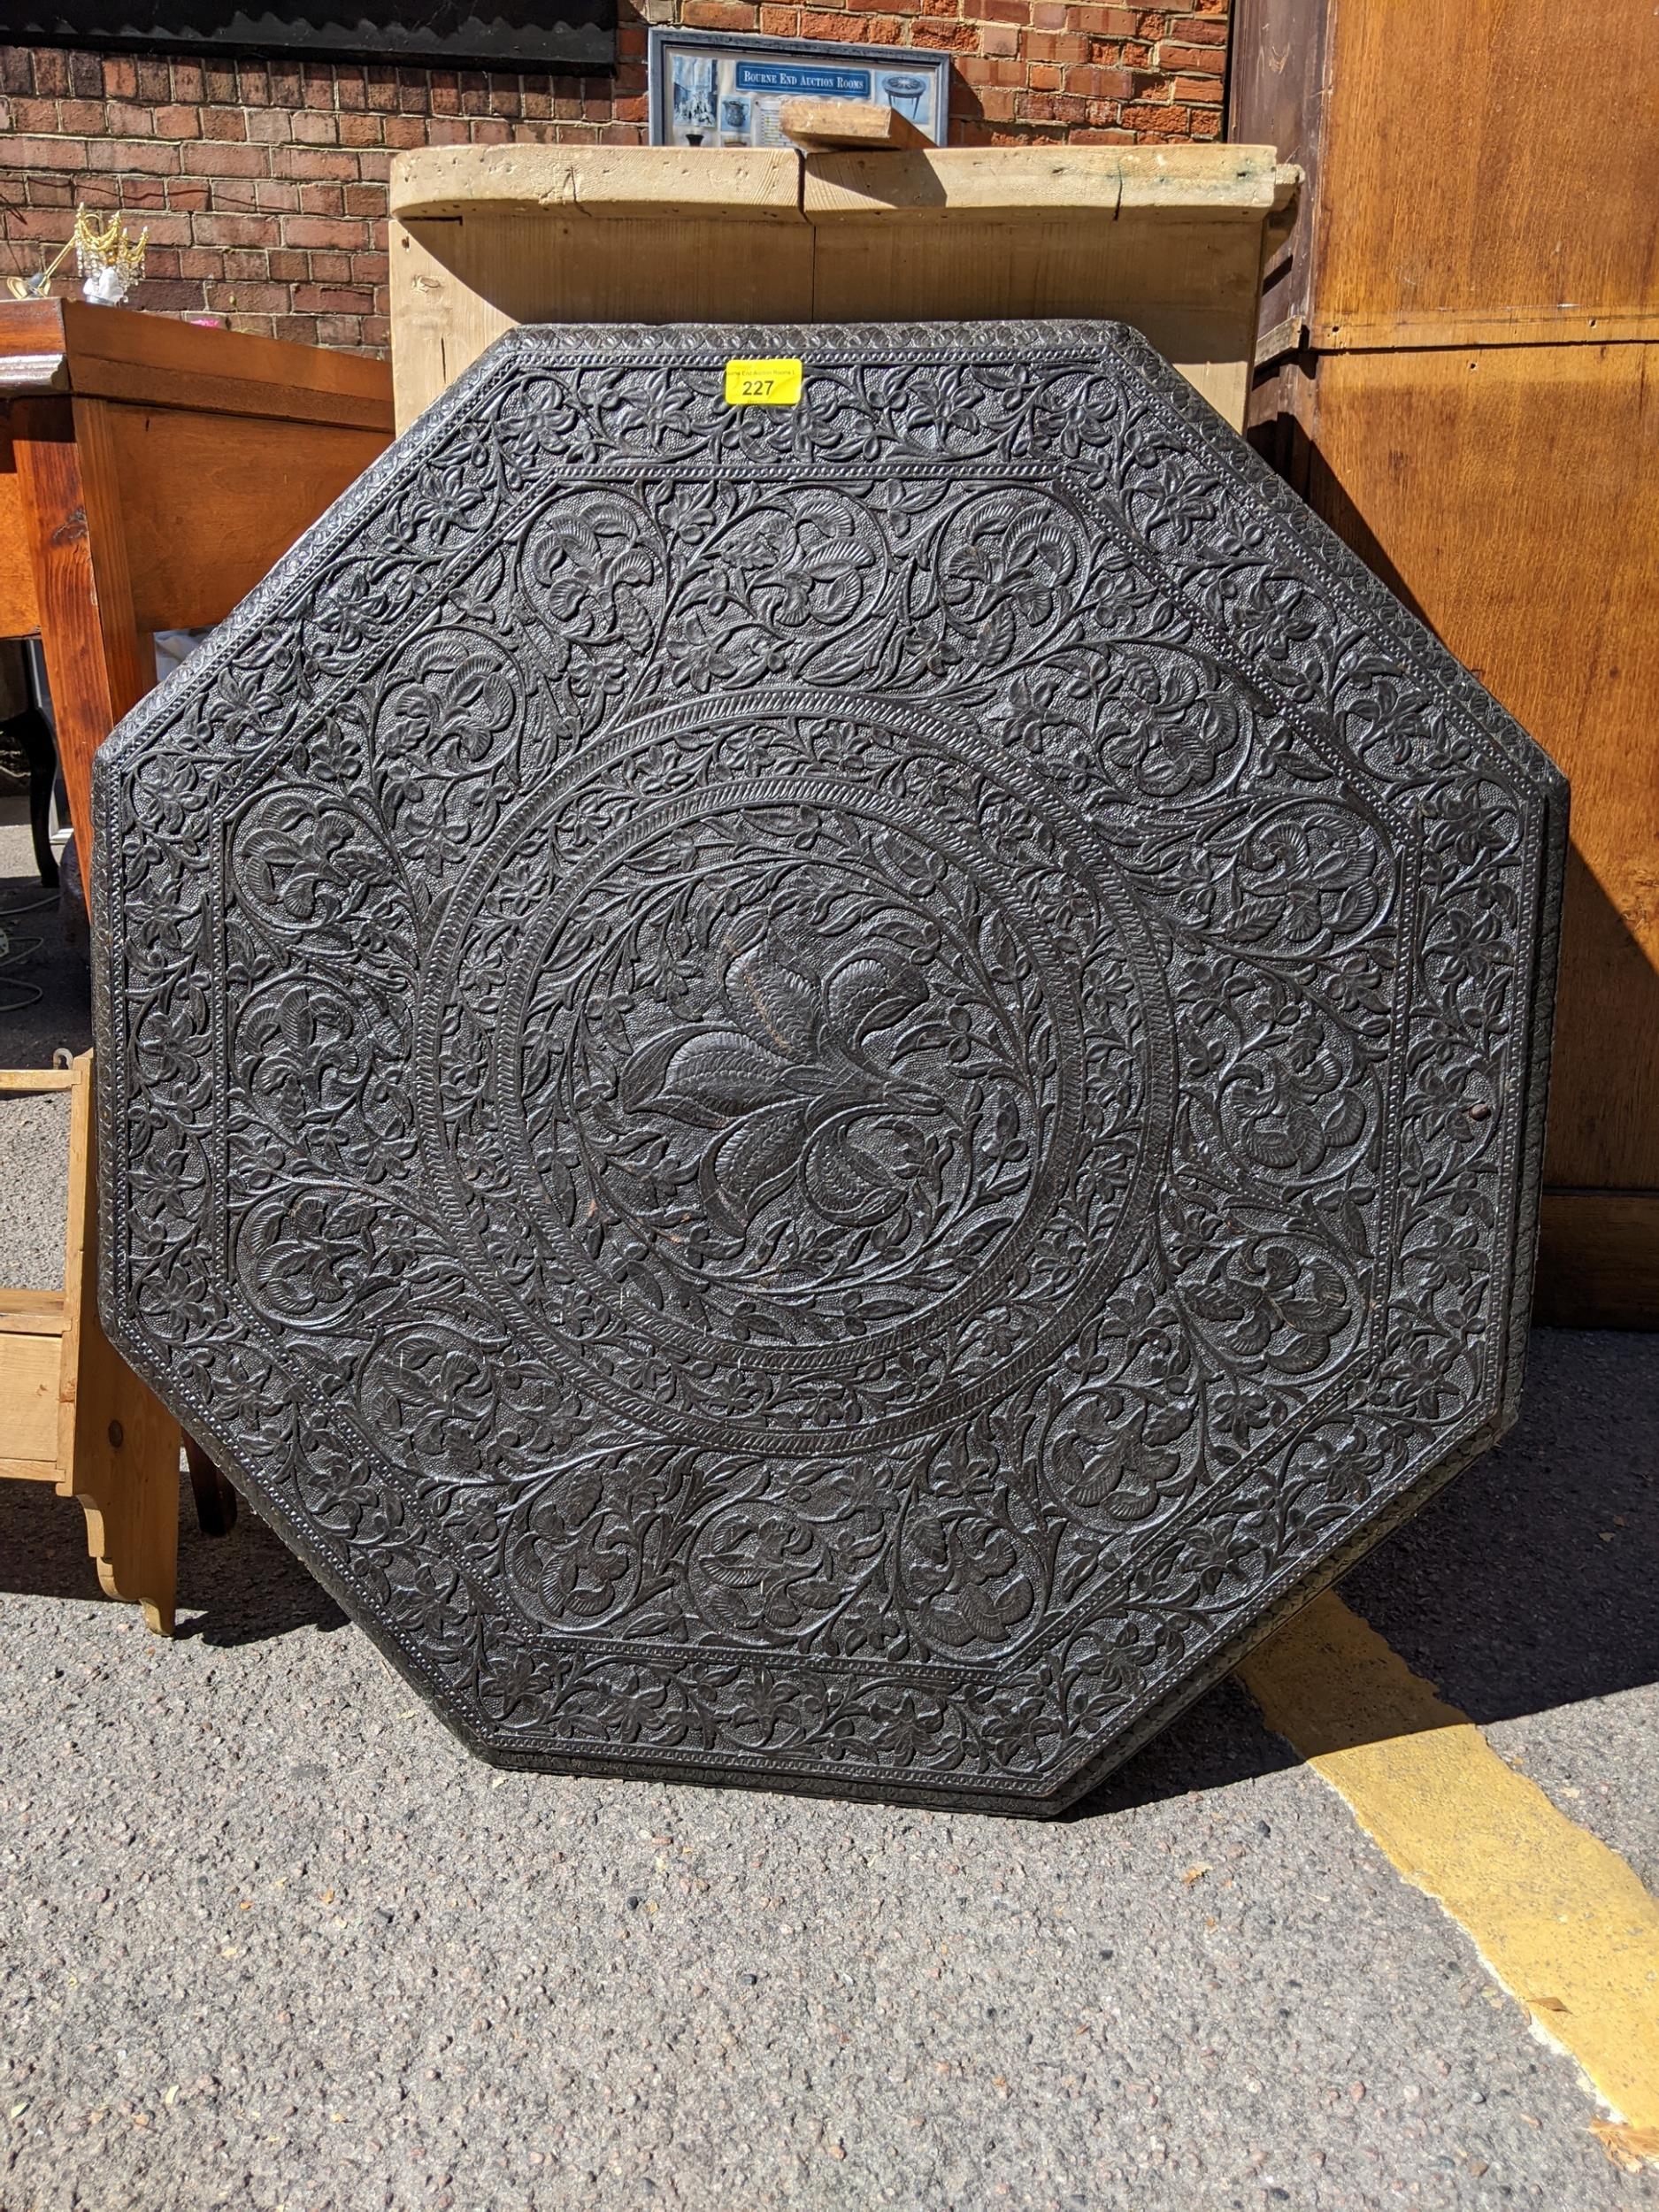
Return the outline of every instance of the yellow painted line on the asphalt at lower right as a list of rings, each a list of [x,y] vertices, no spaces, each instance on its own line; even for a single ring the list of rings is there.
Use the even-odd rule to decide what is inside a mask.
[[[1659,2157],[1659,1902],[1340,1597],[1239,1674],[1276,1734],[1586,2075],[1626,2168]]]

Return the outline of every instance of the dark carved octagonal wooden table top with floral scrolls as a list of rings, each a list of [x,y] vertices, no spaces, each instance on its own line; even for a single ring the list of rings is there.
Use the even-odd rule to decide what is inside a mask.
[[[1130,332],[515,332],[100,757],[106,1325],[487,1756],[1057,1809],[1511,1418],[1564,812]]]

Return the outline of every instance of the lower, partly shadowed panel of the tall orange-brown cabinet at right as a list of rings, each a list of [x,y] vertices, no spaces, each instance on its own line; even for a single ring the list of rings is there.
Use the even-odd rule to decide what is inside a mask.
[[[1329,354],[1307,498],[1573,781],[1546,1179],[1659,1188],[1659,345]]]

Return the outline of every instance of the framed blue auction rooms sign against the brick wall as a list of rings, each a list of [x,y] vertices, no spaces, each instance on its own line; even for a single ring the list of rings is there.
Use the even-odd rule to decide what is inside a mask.
[[[916,46],[653,29],[650,144],[783,146],[785,100],[872,100],[942,146],[949,80],[949,53]]]

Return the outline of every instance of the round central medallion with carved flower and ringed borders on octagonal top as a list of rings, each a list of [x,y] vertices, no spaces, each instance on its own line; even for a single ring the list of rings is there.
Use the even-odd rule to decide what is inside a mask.
[[[987,1402],[1115,1283],[1168,1137],[1168,993],[1086,818],[830,692],[597,754],[507,816],[429,971],[480,1267],[664,1433],[816,1455]]]

